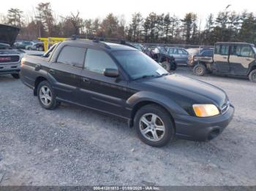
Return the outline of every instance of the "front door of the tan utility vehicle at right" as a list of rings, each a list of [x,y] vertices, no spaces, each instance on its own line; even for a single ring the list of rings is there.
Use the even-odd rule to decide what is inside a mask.
[[[249,64],[255,61],[255,53],[249,45],[233,44],[230,47],[229,61],[233,74],[246,75]]]

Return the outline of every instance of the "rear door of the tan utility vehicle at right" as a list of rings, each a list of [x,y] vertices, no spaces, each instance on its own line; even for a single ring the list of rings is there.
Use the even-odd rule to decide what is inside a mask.
[[[217,44],[214,50],[214,64],[217,67],[219,73],[230,72],[230,63],[228,62],[229,57],[229,45],[228,44]]]

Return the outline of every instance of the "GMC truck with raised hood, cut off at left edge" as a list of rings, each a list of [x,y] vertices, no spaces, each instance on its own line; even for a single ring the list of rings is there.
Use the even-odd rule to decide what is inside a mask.
[[[15,79],[20,77],[20,58],[25,53],[12,47],[19,31],[14,26],[0,25],[0,74],[12,74]]]

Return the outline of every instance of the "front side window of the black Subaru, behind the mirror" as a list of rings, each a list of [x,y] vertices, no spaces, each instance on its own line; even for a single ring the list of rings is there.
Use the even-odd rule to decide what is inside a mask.
[[[85,68],[103,74],[105,69],[118,69],[110,56],[101,50],[89,49],[86,52]]]

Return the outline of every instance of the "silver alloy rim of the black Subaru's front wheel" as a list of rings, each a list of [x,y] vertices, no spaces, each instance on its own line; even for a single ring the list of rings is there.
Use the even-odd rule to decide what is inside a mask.
[[[165,124],[157,114],[140,117],[140,133],[149,141],[160,141],[165,136]]]

